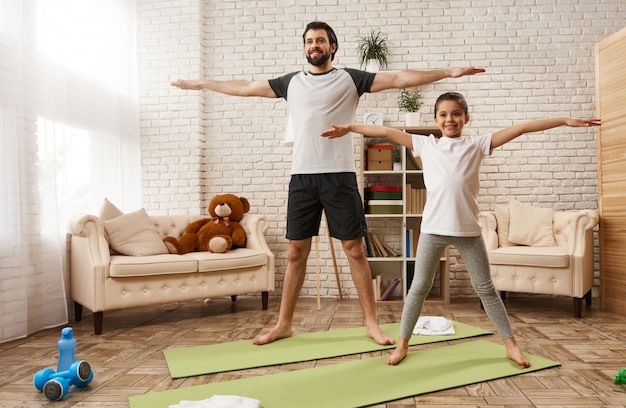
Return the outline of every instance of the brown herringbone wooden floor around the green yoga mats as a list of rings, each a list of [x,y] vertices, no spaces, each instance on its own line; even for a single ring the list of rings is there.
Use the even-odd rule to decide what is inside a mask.
[[[163,349],[251,339],[273,325],[278,302],[271,298],[267,311],[261,310],[260,298],[240,298],[236,303],[224,298],[110,312],[104,315],[101,336],[93,334],[91,316],[72,322],[69,325],[78,339],[76,359],[89,362],[95,376],[88,387],[72,387],[58,402],[49,402],[37,392],[32,378],[42,368],[56,369],[61,327],[2,343],[0,407],[127,407],[131,395],[315,366],[317,362],[308,362],[178,380],[169,377]],[[568,298],[507,297],[523,349],[561,362],[559,368],[377,407],[625,407],[626,386],[615,385],[613,376],[626,368],[626,316],[602,312],[597,299],[594,302],[583,310],[582,319],[575,319]],[[380,323],[398,322],[401,305],[379,306],[378,313]],[[423,314],[493,330],[477,300],[426,306]],[[318,311],[315,299],[302,299],[294,323],[296,333],[305,333],[362,326],[363,317],[357,300],[322,299]],[[488,339],[501,343],[495,335]]]

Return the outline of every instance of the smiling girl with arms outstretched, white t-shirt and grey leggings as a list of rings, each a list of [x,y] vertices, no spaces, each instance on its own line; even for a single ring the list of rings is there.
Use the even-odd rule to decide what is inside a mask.
[[[461,137],[469,118],[465,98],[459,93],[449,92],[441,95],[435,103],[435,122],[442,133],[439,139],[433,135],[411,135],[389,127],[361,124],[332,125],[332,129],[321,134],[329,138],[341,137],[349,132],[387,137],[406,146],[415,157],[422,159],[427,200],[415,260],[415,276],[402,311],[400,339],[386,360],[389,365],[396,365],[406,357],[409,339],[424,299],[433,285],[439,259],[446,246],[450,245],[459,251],[466,263],[472,286],[506,346],[506,357],[522,368],[530,366],[513,336],[506,309],[491,281],[487,251],[478,224],[476,197],[480,187],[480,164],[493,149],[524,133],[564,125],[599,126],[600,119],[538,119],[492,134]]]

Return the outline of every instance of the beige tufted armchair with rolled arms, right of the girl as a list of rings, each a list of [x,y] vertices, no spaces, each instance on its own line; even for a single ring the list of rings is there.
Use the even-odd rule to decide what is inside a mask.
[[[506,292],[571,296],[574,315],[581,317],[582,299],[591,305],[593,286],[593,228],[598,213],[591,210],[553,212],[555,246],[516,245],[499,231],[503,217],[495,211],[480,213],[491,276],[504,298]],[[498,220],[498,218],[500,218]],[[530,222],[530,220],[529,220]],[[501,225],[500,227],[506,226]],[[508,231],[506,231],[508,232]]]

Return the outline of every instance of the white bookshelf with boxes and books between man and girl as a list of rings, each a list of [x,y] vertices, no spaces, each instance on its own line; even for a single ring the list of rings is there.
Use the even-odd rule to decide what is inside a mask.
[[[414,134],[435,134],[435,127],[402,128]],[[404,146],[387,139],[362,135],[361,191],[368,225],[366,246],[372,285],[379,302],[404,301],[413,279],[415,249],[426,198],[419,159]],[[400,152],[401,169],[392,170],[393,152]],[[448,304],[448,250],[427,304]],[[384,299],[384,300],[383,300]]]

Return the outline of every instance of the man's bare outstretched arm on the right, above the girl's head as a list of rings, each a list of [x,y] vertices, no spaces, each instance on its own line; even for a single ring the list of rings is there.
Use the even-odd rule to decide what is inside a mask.
[[[475,75],[485,72],[484,68],[461,67],[449,69],[435,69],[430,71],[417,71],[407,69],[398,72],[378,72],[372,83],[371,92],[384,91],[386,89],[411,88],[414,86],[429,84],[444,78],[459,78],[467,75]]]

